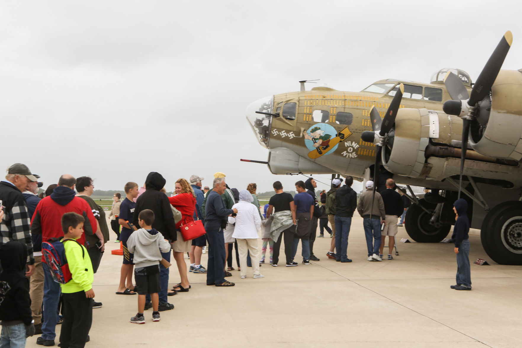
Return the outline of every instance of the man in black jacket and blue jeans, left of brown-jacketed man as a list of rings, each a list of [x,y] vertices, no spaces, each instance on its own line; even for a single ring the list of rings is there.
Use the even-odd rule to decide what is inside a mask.
[[[357,208],[357,193],[351,188],[352,184],[353,178],[346,177],[345,185],[335,194],[335,260],[340,262],[352,262],[347,256],[348,235]]]

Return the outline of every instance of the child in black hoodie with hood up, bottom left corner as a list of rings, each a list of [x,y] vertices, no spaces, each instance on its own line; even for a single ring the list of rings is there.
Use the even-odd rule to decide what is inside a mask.
[[[25,347],[26,338],[34,334],[26,261],[27,247],[21,242],[10,241],[0,247],[3,290],[0,293],[0,346],[3,347]]]

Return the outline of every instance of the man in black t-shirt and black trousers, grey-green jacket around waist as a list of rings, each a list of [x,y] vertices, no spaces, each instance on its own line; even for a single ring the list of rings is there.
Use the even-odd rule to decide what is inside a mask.
[[[283,185],[280,181],[274,182],[274,190],[276,194],[270,197],[270,201],[268,202],[268,209],[266,211],[266,216],[272,214],[272,211],[275,213],[288,211],[292,216],[293,224],[284,229],[281,233],[282,239],[284,239],[284,255],[287,259],[287,267],[296,266],[297,262],[293,262],[293,238],[295,232],[295,204],[293,202],[293,197],[290,193],[283,192]],[[272,258],[272,266],[277,267],[277,263],[279,262],[279,249],[281,247],[281,235],[277,238],[277,241],[274,242],[274,256]]]

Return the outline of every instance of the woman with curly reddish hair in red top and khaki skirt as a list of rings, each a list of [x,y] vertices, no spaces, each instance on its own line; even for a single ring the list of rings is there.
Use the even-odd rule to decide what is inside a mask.
[[[176,195],[169,198],[170,204],[181,213],[181,220],[176,224],[177,240],[172,247],[174,260],[176,260],[177,269],[180,272],[181,282],[174,286],[173,292],[187,292],[191,287],[187,277],[187,264],[185,263],[184,253],[191,250],[191,241],[183,240],[180,232],[181,225],[193,222],[194,210],[196,209],[196,195],[191,185],[185,179],[179,179],[175,185]]]

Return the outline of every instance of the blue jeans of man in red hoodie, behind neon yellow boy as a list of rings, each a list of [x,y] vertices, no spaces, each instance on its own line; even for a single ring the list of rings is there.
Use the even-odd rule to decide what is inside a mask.
[[[43,324],[42,339],[53,341],[56,337],[56,323],[58,318],[58,302],[62,289],[60,283],[56,283],[51,276],[51,271],[46,263],[43,264]]]

